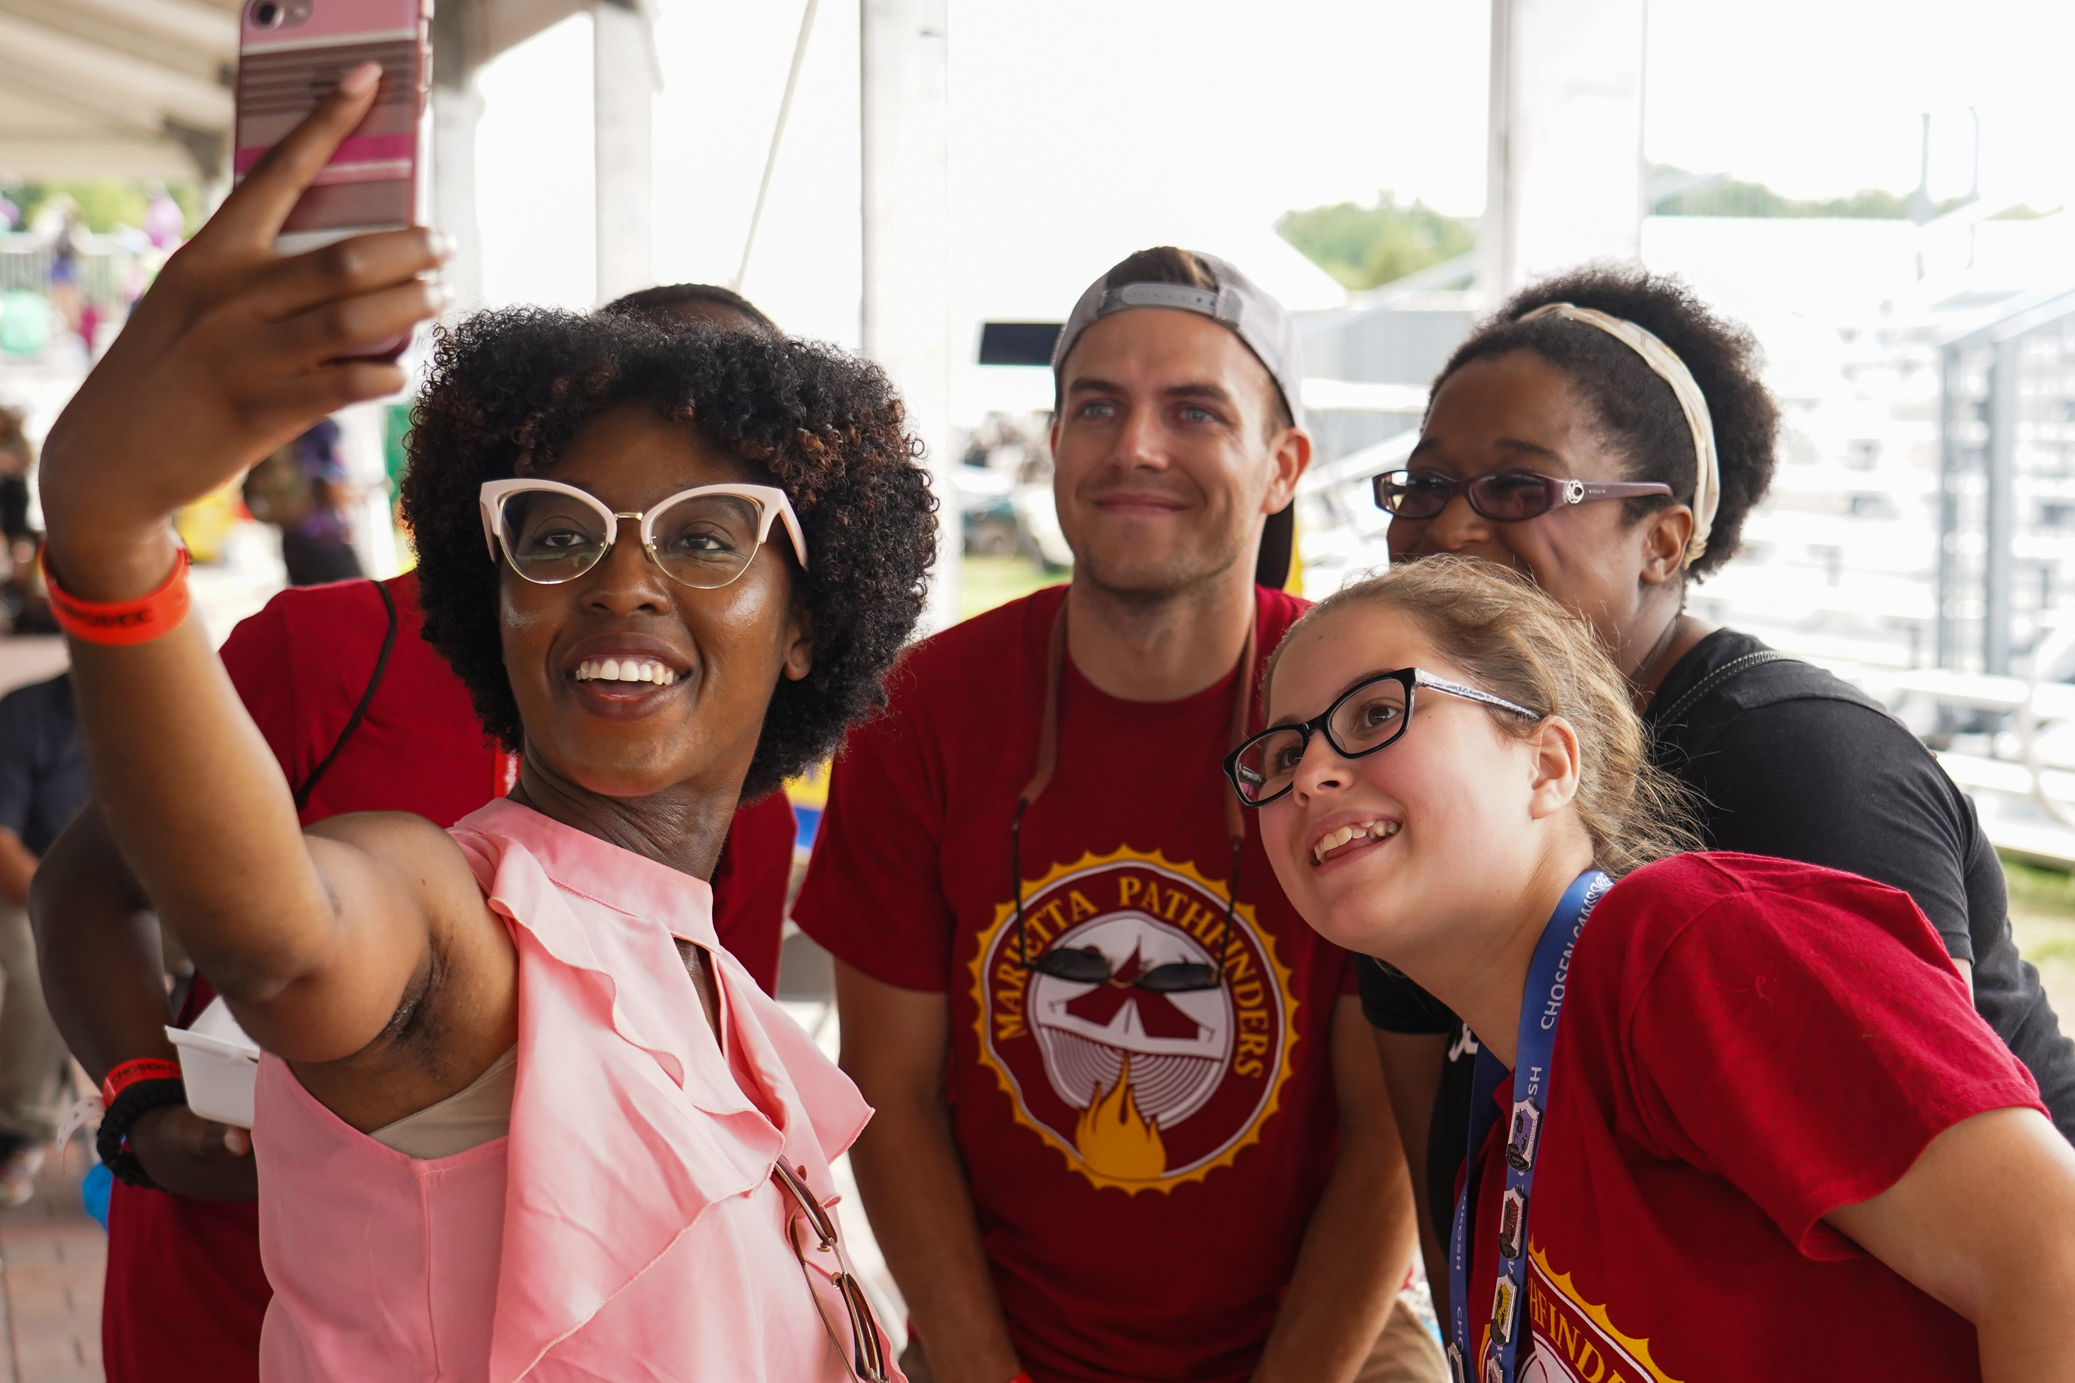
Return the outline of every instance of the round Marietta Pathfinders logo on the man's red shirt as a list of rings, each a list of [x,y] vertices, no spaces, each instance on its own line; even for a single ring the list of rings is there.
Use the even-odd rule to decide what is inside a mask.
[[[1297,999],[1274,943],[1241,904],[1230,945],[1222,883],[1158,854],[1118,850],[1054,869],[1025,894],[1031,956],[1098,950],[1106,983],[1017,964],[1013,904],[973,958],[979,1053],[1038,1132],[1096,1186],[1172,1190],[1260,1136],[1291,1074]],[[1216,989],[1160,991],[1154,966],[1218,964]]]

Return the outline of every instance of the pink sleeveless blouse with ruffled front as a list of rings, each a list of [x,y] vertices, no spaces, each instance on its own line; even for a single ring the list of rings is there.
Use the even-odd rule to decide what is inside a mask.
[[[419,1161],[261,1060],[264,1383],[851,1379],[772,1165],[834,1205],[857,1089],[720,950],[699,879],[506,800],[452,836],[519,948],[510,1134]],[[672,937],[716,960],[726,1051]]]

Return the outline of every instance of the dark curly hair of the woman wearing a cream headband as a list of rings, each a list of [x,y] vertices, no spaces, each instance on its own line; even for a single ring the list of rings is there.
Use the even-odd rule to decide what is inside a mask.
[[[1737,556],[1743,520],[1766,498],[1778,460],[1774,438],[1778,404],[1760,379],[1758,340],[1739,323],[1718,317],[1679,278],[1650,274],[1637,265],[1585,265],[1544,278],[1506,299],[1490,319],[1455,348],[1442,382],[1471,361],[1511,350],[1531,350],[1565,371],[1598,415],[1608,446],[1627,458],[1629,479],[1662,481],[1662,496],[1629,500],[1633,520],[1670,502],[1693,504],[1693,433],[1672,386],[1658,377],[1633,348],[1585,321],[1527,313],[1550,303],[1592,307],[1623,317],[1654,334],[1685,361],[1708,398],[1714,421],[1714,450],[1722,469],[1722,493],[1708,535],[1708,552],[1689,568],[1695,578],[1720,570]]]

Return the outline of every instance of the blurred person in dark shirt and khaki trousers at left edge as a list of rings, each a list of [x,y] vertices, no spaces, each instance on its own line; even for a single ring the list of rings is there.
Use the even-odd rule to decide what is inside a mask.
[[[89,796],[71,678],[0,697],[0,1205],[35,1192],[62,1116],[68,1057],[44,1006],[29,879]]]

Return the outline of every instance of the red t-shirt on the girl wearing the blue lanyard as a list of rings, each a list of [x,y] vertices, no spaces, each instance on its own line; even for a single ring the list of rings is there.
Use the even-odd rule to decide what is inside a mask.
[[[2013,1105],[2044,1113],[1909,894],[1755,854],[1635,871],[1571,958],[1519,1377],[1977,1379],[1973,1325],[1822,1217]],[[1504,1196],[1492,1140],[1479,1174],[1482,1348]]]

